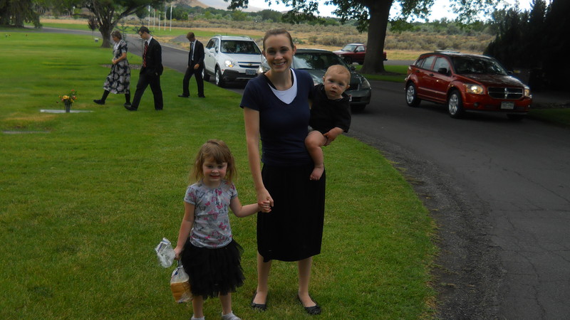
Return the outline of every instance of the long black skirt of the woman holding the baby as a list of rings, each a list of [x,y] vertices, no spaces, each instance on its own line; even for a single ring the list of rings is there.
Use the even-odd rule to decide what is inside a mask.
[[[257,250],[264,261],[299,261],[321,253],[326,172],[309,180],[313,164],[264,165],[261,176],[274,201],[270,213],[257,214]]]

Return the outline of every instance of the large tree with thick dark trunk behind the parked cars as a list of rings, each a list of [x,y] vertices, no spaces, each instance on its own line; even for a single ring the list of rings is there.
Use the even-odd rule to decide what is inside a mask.
[[[229,2],[228,9],[247,8],[249,0],[224,0]],[[300,22],[318,19],[318,1],[316,0],[265,0],[271,3],[282,3],[291,6],[291,11],[283,16],[289,22]],[[451,0],[452,9],[458,14],[460,21],[470,22],[481,12],[489,12],[494,4],[502,0]],[[393,4],[400,6],[400,14],[393,19],[393,26],[408,18],[427,18],[434,0],[326,0],[325,4],[335,5],[333,13],[344,23],[349,19],[358,21],[358,31],[368,30],[368,52],[361,72],[383,73],[384,61],[382,52],[386,30],[390,21],[390,9]]]

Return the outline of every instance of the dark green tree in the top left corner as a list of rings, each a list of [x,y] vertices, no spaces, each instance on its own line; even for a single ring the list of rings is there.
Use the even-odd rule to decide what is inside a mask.
[[[40,16],[31,0],[0,0],[0,26],[24,27],[24,22],[41,28]]]

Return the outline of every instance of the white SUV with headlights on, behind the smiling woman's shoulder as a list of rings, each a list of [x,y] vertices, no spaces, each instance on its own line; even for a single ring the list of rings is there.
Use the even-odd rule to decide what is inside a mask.
[[[204,80],[214,76],[216,85],[247,81],[257,76],[261,50],[249,37],[214,36],[204,49]]]

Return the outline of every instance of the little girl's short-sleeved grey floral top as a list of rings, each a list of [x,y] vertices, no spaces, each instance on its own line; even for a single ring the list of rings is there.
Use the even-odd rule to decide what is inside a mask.
[[[218,188],[209,188],[202,182],[186,190],[184,201],[195,206],[194,225],[190,242],[196,247],[224,247],[232,242],[229,226],[229,201],[237,197],[234,183],[222,180]]]

